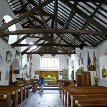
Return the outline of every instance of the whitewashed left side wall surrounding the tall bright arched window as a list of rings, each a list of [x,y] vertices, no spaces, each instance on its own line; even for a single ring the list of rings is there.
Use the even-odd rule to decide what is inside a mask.
[[[0,0],[0,26],[2,25],[3,17],[5,15],[9,15],[13,19],[15,18],[14,13],[10,9],[10,7],[8,6],[6,0]],[[20,26],[19,23],[16,24],[16,28],[17,29],[22,29],[22,27]],[[20,37],[20,35],[18,35],[18,38],[19,37]],[[13,61],[15,59],[15,53],[16,53],[15,49],[20,51],[20,48],[14,48],[13,49],[5,41],[0,39],[0,56],[3,59],[0,62],[0,71],[1,71],[1,75],[2,75],[0,85],[7,85],[8,84],[8,79],[9,79],[9,69],[10,69],[10,64],[11,63],[5,62],[6,51],[10,51],[12,53],[12,61]],[[27,63],[27,61],[25,60],[23,63],[25,64],[25,63]]]

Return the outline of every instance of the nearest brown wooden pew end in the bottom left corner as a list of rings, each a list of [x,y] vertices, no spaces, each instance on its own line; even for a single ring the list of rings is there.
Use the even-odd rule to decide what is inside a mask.
[[[11,96],[10,93],[0,94],[0,107],[11,107]]]

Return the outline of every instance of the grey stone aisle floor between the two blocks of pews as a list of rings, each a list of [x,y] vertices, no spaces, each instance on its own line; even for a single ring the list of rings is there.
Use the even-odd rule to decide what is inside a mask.
[[[33,94],[21,107],[64,107],[58,90],[39,90]]]

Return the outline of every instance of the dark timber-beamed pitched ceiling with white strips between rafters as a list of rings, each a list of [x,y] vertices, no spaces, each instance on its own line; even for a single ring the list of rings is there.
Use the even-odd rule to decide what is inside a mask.
[[[0,35],[25,34],[11,44],[27,46],[22,54],[72,54],[76,47],[96,47],[107,39],[107,0],[83,1],[7,0],[16,18],[0,27]],[[6,31],[16,23],[23,30]],[[34,44],[21,44],[24,39]]]

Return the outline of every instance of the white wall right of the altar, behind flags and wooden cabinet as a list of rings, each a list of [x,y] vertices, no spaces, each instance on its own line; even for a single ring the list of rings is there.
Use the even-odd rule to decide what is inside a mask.
[[[74,79],[76,79],[76,71],[78,68],[82,68],[83,71],[88,71],[87,70],[87,61],[88,61],[87,52],[89,52],[91,63],[93,64],[93,52],[94,51],[96,53],[96,49],[93,47],[84,47],[83,49],[80,49],[80,48],[75,49],[76,54],[71,54],[71,59],[70,59],[71,67],[69,68],[69,77],[72,74],[72,70],[74,70]],[[83,61],[81,61],[81,58]]]

